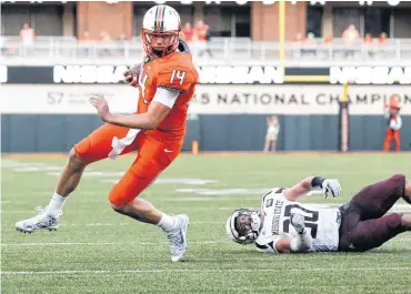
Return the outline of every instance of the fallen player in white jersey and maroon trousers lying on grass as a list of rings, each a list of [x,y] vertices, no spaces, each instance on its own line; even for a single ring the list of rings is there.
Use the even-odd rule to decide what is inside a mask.
[[[411,214],[388,211],[403,199],[411,204],[411,182],[402,174],[368,185],[339,209],[297,202],[311,190],[339,196],[338,180],[310,176],[291,189],[275,187],[260,210],[239,209],[228,219],[230,240],[255,244],[264,253],[364,252],[411,231]]]

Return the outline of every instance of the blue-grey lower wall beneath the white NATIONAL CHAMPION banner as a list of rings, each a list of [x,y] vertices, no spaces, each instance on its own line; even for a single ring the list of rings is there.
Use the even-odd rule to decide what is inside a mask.
[[[261,151],[264,114],[203,114],[188,120],[184,150],[200,142],[200,151]],[[338,115],[279,115],[278,150],[337,151]],[[381,150],[385,121],[381,115],[352,115],[350,150]],[[67,152],[102,122],[94,114],[3,114],[1,150],[8,152]],[[411,125],[411,115],[403,116]],[[402,150],[409,150],[410,132],[402,132]]]

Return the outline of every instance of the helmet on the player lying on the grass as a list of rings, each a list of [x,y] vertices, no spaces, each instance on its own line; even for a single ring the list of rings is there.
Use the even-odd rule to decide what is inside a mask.
[[[227,220],[229,239],[240,244],[254,243],[260,234],[260,212],[250,209],[235,210]]]

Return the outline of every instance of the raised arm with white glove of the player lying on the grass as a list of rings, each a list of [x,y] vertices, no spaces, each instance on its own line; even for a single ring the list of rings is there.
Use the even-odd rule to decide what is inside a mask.
[[[311,190],[322,189],[324,196],[339,196],[341,194],[341,186],[338,180],[324,179],[321,176],[309,176],[300,183],[284,191],[284,196],[290,201],[297,201],[299,197],[305,195]]]

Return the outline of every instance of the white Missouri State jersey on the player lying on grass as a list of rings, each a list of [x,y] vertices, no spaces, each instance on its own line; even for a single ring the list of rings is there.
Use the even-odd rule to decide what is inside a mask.
[[[262,197],[264,222],[255,245],[261,252],[277,253],[275,243],[297,235],[290,223],[291,213],[304,215],[305,229],[312,236],[310,252],[337,251],[341,216],[338,209],[317,209],[285,199],[285,189],[275,187]]]

